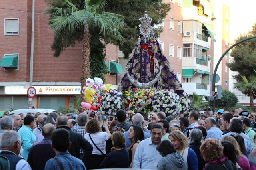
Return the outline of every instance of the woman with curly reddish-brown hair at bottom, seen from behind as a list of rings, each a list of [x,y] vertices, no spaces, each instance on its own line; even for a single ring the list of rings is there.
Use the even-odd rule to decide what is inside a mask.
[[[202,157],[207,163],[204,170],[236,170],[231,160],[223,156],[224,147],[219,140],[209,138],[200,146]]]

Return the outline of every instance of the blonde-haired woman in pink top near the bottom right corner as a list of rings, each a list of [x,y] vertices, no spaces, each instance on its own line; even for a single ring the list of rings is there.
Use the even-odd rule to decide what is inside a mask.
[[[236,160],[237,160],[238,165],[242,168],[242,170],[250,170],[250,163],[249,163],[248,159],[242,155],[240,146],[239,146],[238,142],[236,141],[236,139],[232,136],[225,136],[224,138],[222,138],[222,141],[224,141],[224,140],[227,140],[234,145]]]

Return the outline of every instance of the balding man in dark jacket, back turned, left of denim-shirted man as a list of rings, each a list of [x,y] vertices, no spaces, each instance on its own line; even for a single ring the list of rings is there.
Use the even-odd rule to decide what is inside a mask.
[[[55,129],[55,126],[51,123],[42,127],[44,139],[32,146],[28,153],[28,164],[30,164],[32,170],[44,170],[47,160],[54,158],[55,152],[51,147],[51,136]]]

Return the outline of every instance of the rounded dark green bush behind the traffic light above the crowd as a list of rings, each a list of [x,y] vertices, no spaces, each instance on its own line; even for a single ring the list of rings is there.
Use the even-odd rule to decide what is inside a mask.
[[[238,99],[236,95],[228,90],[222,91],[222,99],[216,101],[216,107],[224,110],[232,110],[236,106]]]

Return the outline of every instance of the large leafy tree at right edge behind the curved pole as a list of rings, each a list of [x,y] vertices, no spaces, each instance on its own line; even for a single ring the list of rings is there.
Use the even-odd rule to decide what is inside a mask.
[[[256,24],[252,26],[252,31],[247,34],[241,34],[236,38],[235,42],[243,40],[248,37],[256,35]],[[250,77],[253,69],[256,68],[256,39],[251,39],[242,42],[232,49],[230,55],[233,57],[231,63],[228,63],[228,67],[232,71],[238,71],[238,75],[234,76],[237,81],[242,81],[241,75],[246,78]]]

